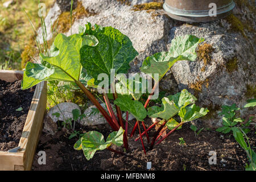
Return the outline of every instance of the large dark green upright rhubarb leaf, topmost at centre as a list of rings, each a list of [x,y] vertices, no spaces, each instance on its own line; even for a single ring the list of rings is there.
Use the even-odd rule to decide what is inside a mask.
[[[85,34],[93,35],[99,41],[95,47],[83,46],[80,50],[82,67],[94,78],[96,85],[100,73],[110,76],[111,69],[114,69],[115,74],[127,73],[129,63],[138,52],[126,35],[113,27],[101,27],[96,24],[92,28],[90,23],[86,24]]]

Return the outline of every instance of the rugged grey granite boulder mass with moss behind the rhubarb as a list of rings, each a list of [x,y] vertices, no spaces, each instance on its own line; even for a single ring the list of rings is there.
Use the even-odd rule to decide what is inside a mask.
[[[195,62],[179,61],[160,82],[159,88],[174,94],[188,89],[198,98],[200,106],[210,113],[201,119],[204,126],[221,125],[218,112],[222,105],[236,103],[242,107],[255,96],[255,7],[251,1],[235,1],[236,8],[228,18],[209,23],[184,23],[169,18],[163,9],[138,9],[150,0],[81,0],[84,8],[94,12],[76,19],[72,33],[79,25],[90,22],[112,26],[129,36],[139,56],[130,64],[130,73],[139,72],[142,61],[156,52],[167,51],[176,36],[192,34],[205,42],[197,50]],[[163,2],[163,1],[158,1]],[[154,7],[152,7],[154,9]],[[60,15],[55,3],[46,17],[46,26]],[[70,35],[71,30],[65,32]],[[48,34],[49,37],[51,34]],[[49,39],[49,37],[47,39]],[[241,111],[241,117],[255,109]]]

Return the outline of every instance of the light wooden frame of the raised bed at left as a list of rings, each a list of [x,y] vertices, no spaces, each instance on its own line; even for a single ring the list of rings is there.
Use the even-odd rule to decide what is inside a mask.
[[[0,79],[8,82],[22,80],[22,71],[0,70]],[[27,114],[22,137],[19,140],[17,152],[0,151],[0,170],[27,171],[31,170],[36,146],[43,126],[43,117],[46,110],[47,82],[36,85],[30,110]]]

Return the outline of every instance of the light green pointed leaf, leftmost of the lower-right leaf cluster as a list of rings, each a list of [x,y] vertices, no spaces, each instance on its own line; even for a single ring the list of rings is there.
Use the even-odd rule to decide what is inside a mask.
[[[148,108],[148,116],[151,118],[170,119],[179,113],[174,101],[170,101],[167,97],[162,98],[162,107],[152,106]]]

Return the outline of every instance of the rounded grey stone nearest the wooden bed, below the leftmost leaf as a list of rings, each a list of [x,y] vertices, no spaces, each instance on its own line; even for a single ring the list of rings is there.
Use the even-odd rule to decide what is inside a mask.
[[[72,110],[78,109],[81,113],[80,107],[72,102],[62,102],[49,110],[47,116],[52,119],[53,122],[65,121],[66,119],[73,118]],[[54,113],[59,113],[60,117],[57,118]]]

